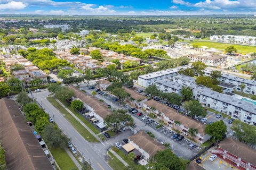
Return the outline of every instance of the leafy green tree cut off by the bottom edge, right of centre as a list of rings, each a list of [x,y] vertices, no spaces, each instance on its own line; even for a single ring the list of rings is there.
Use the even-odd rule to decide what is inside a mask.
[[[173,154],[171,149],[165,149],[158,151],[154,156],[150,157],[148,167],[154,167],[154,169],[185,170],[187,162]]]

